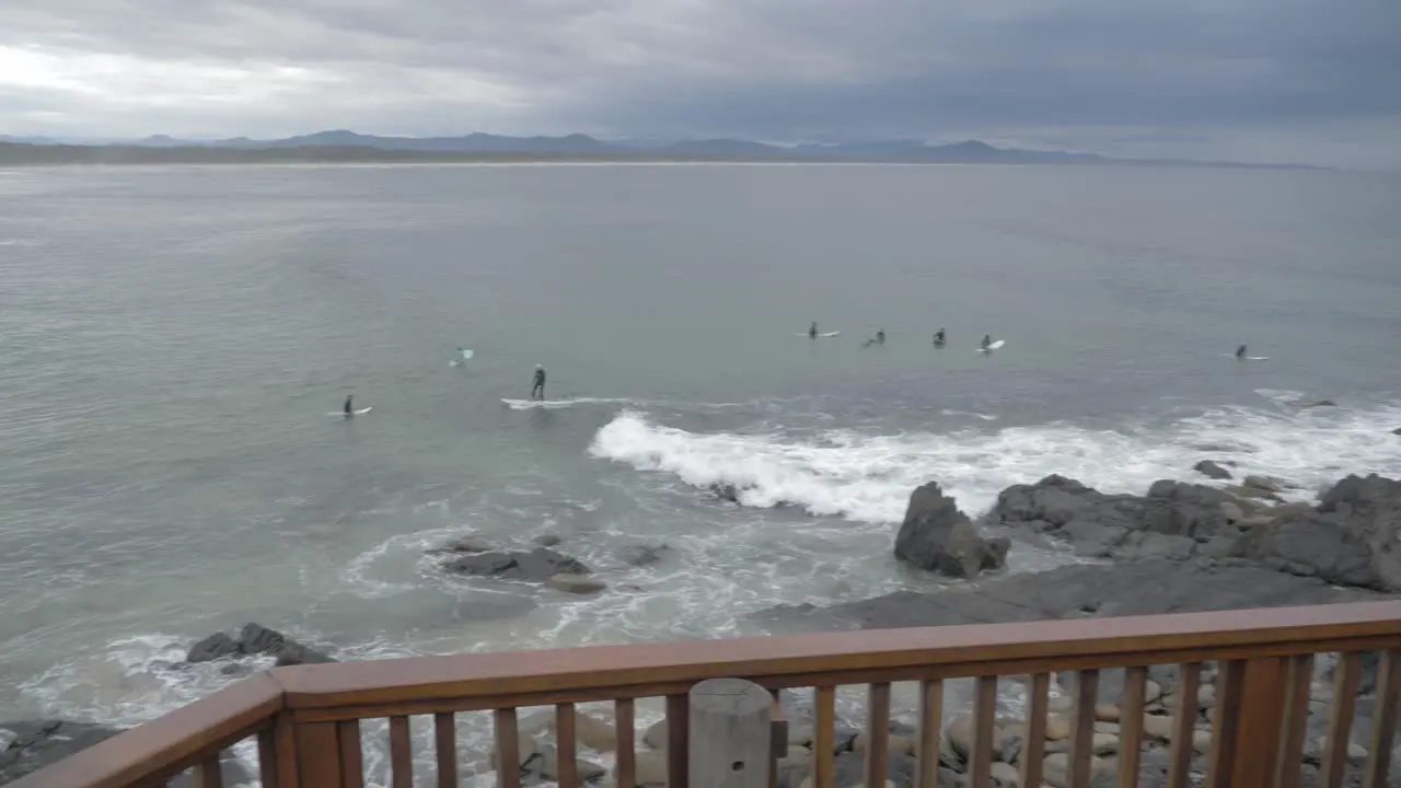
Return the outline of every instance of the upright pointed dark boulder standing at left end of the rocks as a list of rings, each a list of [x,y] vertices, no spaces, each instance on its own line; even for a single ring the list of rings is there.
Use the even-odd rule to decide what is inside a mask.
[[[976,578],[1007,559],[1010,543],[984,538],[953,498],[929,482],[909,496],[905,522],[895,536],[895,558],[951,578]]]

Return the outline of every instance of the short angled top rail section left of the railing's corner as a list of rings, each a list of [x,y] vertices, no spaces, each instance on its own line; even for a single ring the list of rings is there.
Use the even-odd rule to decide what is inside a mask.
[[[270,676],[251,676],[22,777],[10,788],[126,788],[161,781],[272,726],[282,698],[282,687]]]

